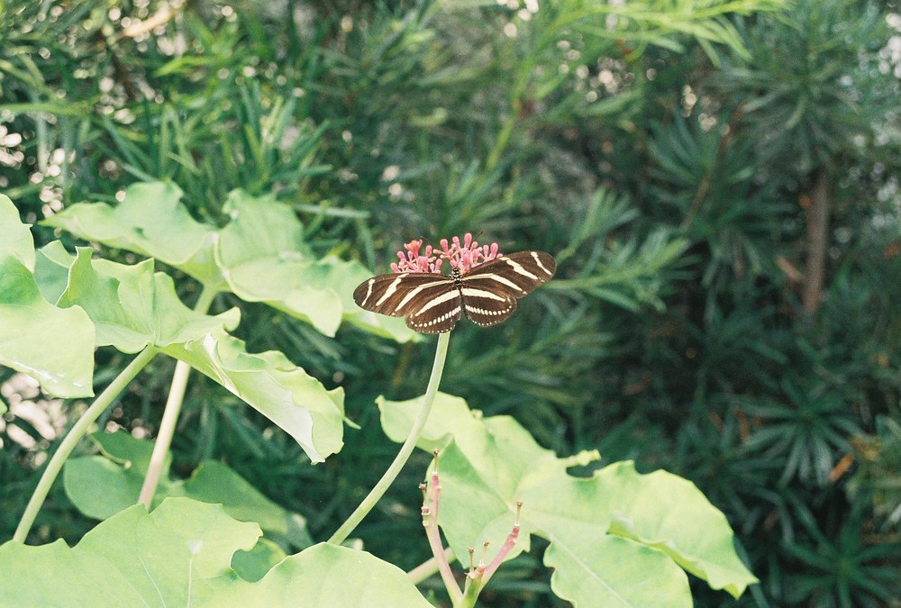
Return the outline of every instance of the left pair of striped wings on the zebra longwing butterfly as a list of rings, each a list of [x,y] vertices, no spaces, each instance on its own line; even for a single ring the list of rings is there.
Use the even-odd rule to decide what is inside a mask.
[[[354,290],[353,300],[373,313],[405,317],[407,327],[423,333],[451,331],[463,314],[453,279],[432,273],[372,277]]]

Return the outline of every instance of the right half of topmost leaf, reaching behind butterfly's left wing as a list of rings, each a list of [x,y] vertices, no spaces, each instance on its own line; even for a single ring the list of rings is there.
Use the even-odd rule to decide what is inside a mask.
[[[372,275],[358,262],[315,259],[289,207],[271,196],[236,191],[226,210],[232,222],[220,233],[216,261],[235,295],[304,319],[329,336],[344,318],[398,341],[414,339],[403,320],[367,313],[353,303],[354,288]]]

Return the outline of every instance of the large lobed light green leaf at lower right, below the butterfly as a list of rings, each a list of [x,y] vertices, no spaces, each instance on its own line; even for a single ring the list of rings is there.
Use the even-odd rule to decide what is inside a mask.
[[[419,399],[380,399],[379,407],[388,436],[403,440]],[[664,471],[642,476],[631,462],[610,465],[592,477],[569,476],[567,467],[587,464],[597,458],[596,454],[557,458],[538,446],[513,418],[483,419],[470,412],[462,399],[450,395],[438,396],[419,447],[442,450],[440,523],[457,555],[466,555],[467,547],[483,540],[500,547],[514,521],[516,503],[522,501],[523,541],[511,556],[528,547],[529,534],[551,540],[551,557],[547,559],[558,564],[576,563],[585,570],[582,574],[560,572],[560,585],[590,574],[603,580],[611,593],[633,597],[632,605],[662,605],[661,597],[666,597],[666,605],[690,603],[684,575],[669,566],[652,574],[658,585],[642,587],[644,594],[634,596],[634,581],[651,576],[644,566],[649,561],[665,562],[649,558],[644,549],[642,557],[636,558],[635,543],[607,543],[606,550],[618,556],[623,565],[614,571],[606,569],[606,558],[598,558],[584,540],[611,534],[659,551],[660,556],[668,556],[712,587],[724,588],[734,596],[757,580],[735,555],[733,531],[723,514],[695,485],[678,476]],[[560,557],[570,554],[572,558]],[[632,567],[627,567],[630,564]],[[669,594],[677,588],[682,594],[661,595],[663,590]],[[576,593],[578,589],[566,585],[566,591]],[[591,594],[564,596],[595,605]]]

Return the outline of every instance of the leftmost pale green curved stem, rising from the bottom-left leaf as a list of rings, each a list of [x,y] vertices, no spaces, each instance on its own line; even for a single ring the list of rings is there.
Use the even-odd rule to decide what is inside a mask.
[[[78,419],[78,422],[72,426],[72,430],[68,431],[68,435],[59,444],[59,449],[50,458],[47,468],[44,469],[43,475],[41,475],[41,480],[38,481],[38,486],[34,488],[32,498],[28,501],[28,506],[25,507],[25,512],[22,514],[22,520],[19,521],[19,526],[15,529],[14,541],[24,542],[28,537],[28,532],[32,529],[32,523],[34,523],[34,519],[41,510],[41,505],[44,504],[44,499],[47,498],[50,492],[50,486],[53,485],[53,482],[59,475],[59,471],[66,464],[68,455],[78,445],[78,441],[85,436],[87,430],[96,422],[100,414],[104,413],[105,409],[114,402],[115,398],[125,390],[125,387],[141,372],[141,369],[150,363],[150,359],[156,357],[157,353],[159,353],[159,349],[152,346],[141,350],[137,357],[133,358],[132,362],[114,378],[113,382],[106,386],[104,392],[97,395],[94,403],[87,408],[86,412]]]

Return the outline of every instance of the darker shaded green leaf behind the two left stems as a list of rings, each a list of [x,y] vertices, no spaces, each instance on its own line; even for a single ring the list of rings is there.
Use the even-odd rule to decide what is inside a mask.
[[[136,504],[147,475],[153,444],[124,431],[91,435],[103,456],[70,458],[65,468],[66,494],[78,511],[105,520]],[[188,479],[168,476],[168,461],[159,480],[153,505],[169,496],[186,496],[222,504],[240,522],[256,522],[267,532],[304,549],[313,544],[306,522],[259,493],[246,479],[216,460],[206,460]]]

